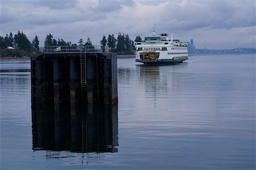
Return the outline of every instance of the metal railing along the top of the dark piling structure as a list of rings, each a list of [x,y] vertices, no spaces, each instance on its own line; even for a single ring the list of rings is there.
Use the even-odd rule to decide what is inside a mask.
[[[101,45],[47,45],[45,53],[77,53],[77,52],[104,52]]]

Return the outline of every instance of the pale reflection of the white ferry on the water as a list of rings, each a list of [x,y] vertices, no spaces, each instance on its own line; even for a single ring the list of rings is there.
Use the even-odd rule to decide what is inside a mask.
[[[171,97],[181,93],[181,89],[187,87],[189,74],[181,70],[187,67],[186,63],[179,65],[136,65],[138,73],[137,84],[144,89],[147,97],[159,98]],[[171,95],[171,96],[169,96]]]

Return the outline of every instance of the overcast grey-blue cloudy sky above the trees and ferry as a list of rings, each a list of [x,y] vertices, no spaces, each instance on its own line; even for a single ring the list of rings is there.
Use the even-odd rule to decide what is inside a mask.
[[[170,34],[196,48],[255,47],[255,0],[1,0],[0,35],[19,30],[32,42],[46,35],[77,43],[87,37],[94,45],[118,32]]]

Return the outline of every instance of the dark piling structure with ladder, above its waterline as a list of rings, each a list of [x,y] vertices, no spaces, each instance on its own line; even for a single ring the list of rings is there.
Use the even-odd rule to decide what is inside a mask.
[[[31,57],[31,97],[39,105],[116,103],[117,55],[83,52]]]

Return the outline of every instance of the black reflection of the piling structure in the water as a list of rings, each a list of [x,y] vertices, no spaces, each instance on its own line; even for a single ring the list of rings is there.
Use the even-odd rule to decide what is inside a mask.
[[[117,105],[80,106],[32,105],[33,150],[71,152],[117,152]]]

